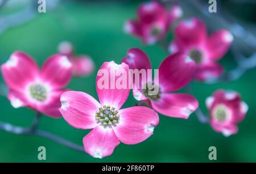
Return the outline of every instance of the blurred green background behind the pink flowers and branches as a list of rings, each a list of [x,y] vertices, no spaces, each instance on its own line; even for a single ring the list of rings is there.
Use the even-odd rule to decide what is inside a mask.
[[[143,45],[141,40],[126,35],[123,23],[135,18],[135,11],[143,1],[47,1],[46,13],[39,14],[37,1],[0,0],[0,63],[8,60],[15,50],[30,54],[42,65],[47,57],[55,54],[61,41],[70,41],[77,54],[88,54],[96,63],[96,70],[88,77],[73,78],[68,88],[84,91],[97,99],[95,78],[98,68],[105,61],[120,62],[128,49],[137,47],[148,54],[152,67],[157,69],[168,53],[159,44]],[[208,1],[201,1],[208,10]],[[219,2],[219,1],[218,1]],[[3,5],[3,3],[5,3]],[[209,20],[189,1],[181,3],[184,18],[197,16],[208,22],[209,32],[223,26],[214,22],[221,13]],[[220,2],[221,3],[221,2]],[[222,10],[232,20],[256,33],[255,1],[224,1]],[[204,9],[201,9],[204,10]],[[214,18],[216,15],[216,18]],[[230,19],[230,18],[229,18]],[[173,29],[173,28],[172,28]],[[235,37],[235,40],[237,38]],[[172,40],[172,31],[167,37]],[[239,39],[238,39],[239,40]],[[246,54],[255,49],[246,46]],[[221,60],[226,70],[236,67],[229,52]],[[210,162],[208,148],[216,146],[217,162],[256,162],[256,69],[246,71],[238,80],[228,83],[204,84],[192,82],[200,108],[207,113],[205,98],[219,88],[240,92],[249,105],[249,112],[239,124],[239,132],[228,138],[213,131],[208,124],[201,124],[195,114],[188,120],[160,116],[154,135],[138,145],[120,144],[112,156],[95,159],[85,152],[72,150],[49,139],[36,135],[15,135],[0,130],[0,162]],[[3,82],[2,76],[0,82]],[[184,91],[182,91],[184,92]],[[130,95],[123,107],[135,104]],[[14,109],[6,97],[0,96],[0,120],[19,126],[30,126],[34,112],[28,108]],[[60,119],[42,117],[39,129],[50,131],[82,145],[82,138],[89,130],[79,130]],[[38,160],[38,147],[46,147],[46,161]]]

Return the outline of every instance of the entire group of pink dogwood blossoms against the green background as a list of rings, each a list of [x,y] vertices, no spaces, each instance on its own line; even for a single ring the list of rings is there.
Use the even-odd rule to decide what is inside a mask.
[[[179,6],[169,10],[156,1],[142,3],[138,8],[138,19],[129,20],[125,31],[145,44],[154,44],[166,37],[171,24],[182,14]],[[135,99],[150,108],[121,108],[130,88],[100,88],[97,85],[102,70],[109,74],[114,71],[114,76],[108,77],[114,82],[121,76],[117,71],[125,72],[129,79],[130,70],[152,70],[147,54],[141,49],[131,48],[119,65],[114,61],[102,64],[96,77],[98,102],[84,92],[64,89],[72,74],[88,75],[94,70],[93,61],[87,56],[74,56],[73,46],[67,42],[59,45],[59,54],[49,57],[42,69],[26,53],[11,54],[1,66],[3,79],[9,87],[8,99],[14,108],[28,107],[51,117],[62,115],[77,129],[92,129],[83,139],[85,152],[96,158],[112,155],[120,142],[134,145],[150,137],[159,124],[158,113],[189,118],[199,107],[197,99],[175,91],[187,86],[192,79],[204,81],[222,74],[222,66],[217,61],[232,44],[230,32],[221,29],[207,37],[205,24],[192,18],[177,24],[174,35],[169,46],[171,55],[160,63],[159,74],[154,79],[139,78],[138,86],[132,82]],[[130,86],[128,81],[123,83]],[[151,95],[155,88],[158,92]],[[212,128],[225,136],[236,134],[237,124],[245,118],[248,109],[240,95],[219,90],[208,97],[206,103]]]

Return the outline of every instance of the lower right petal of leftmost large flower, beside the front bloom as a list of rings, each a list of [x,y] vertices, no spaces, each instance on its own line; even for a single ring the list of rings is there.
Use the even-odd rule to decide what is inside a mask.
[[[52,91],[47,103],[38,104],[38,111],[53,118],[61,117],[59,111],[61,107],[60,96],[66,91],[67,90]]]

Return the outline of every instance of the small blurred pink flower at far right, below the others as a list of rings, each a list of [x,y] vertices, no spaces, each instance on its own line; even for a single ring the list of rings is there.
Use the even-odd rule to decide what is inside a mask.
[[[247,104],[235,91],[218,90],[206,100],[213,130],[226,137],[238,132],[237,124],[245,118]]]

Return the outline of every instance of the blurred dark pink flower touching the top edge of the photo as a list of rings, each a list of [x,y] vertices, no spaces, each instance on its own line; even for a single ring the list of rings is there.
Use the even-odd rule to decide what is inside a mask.
[[[179,6],[170,10],[156,1],[142,3],[137,11],[138,19],[125,23],[125,32],[142,39],[145,44],[154,44],[163,39],[171,24],[183,15]]]

